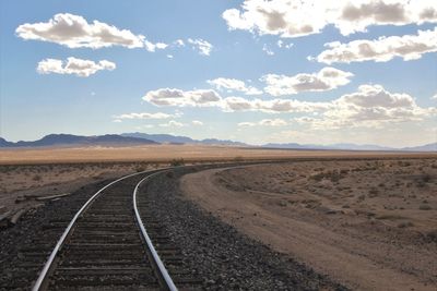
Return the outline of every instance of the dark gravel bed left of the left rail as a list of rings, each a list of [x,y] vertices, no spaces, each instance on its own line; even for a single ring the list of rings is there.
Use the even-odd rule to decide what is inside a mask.
[[[29,290],[74,214],[108,182],[47,202],[28,210],[13,228],[0,230],[0,290]]]

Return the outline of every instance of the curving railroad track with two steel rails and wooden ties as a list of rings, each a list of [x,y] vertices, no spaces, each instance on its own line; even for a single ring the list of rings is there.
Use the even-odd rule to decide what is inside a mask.
[[[140,186],[161,172],[130,174],[95,193],[63,231],[33,290],[200,289],[160,221],[139,209]]]

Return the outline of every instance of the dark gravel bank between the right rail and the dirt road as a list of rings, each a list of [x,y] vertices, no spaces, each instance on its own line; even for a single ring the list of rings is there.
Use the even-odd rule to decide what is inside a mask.
[[[141,189],[147,207],[181,247],[184,264],[205,290],[346,290],[285,255],[237,232],[185,199],[179,178],[201,167],[162,173]],[[140,209],[141,210],[141,209]]]

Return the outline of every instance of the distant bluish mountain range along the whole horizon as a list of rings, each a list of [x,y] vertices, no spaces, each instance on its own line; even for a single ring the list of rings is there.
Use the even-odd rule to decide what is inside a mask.
[[[228,140],[206,138],[193,140],[188,136],[177,136],[172,134],[146,134],[146,133],[122,133],[106,134],[95,136],[82,136],[72,134],[49,134],[40,140],[33,142],[8,142],[0,137],[0,147],[40,147],[40,146],[123,146],[123,145],[150,145],[150,144],[197,144],[197,145],[227,145],[256,148],[285,148],[285,149],[345,149],[345,150],[402,150],[402,151],[437,151],[437,143],[423,146],[392,148],[378,145],[356,145],[356,144],[265,144],[262,146],[248,145],[240,142]]]

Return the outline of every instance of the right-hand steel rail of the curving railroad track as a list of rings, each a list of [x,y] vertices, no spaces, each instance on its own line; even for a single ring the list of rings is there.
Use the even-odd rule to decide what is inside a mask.
[[[140,185],[143,182],[145,182],[149,179],[151,179],[152,177],[154,177],[156,174],[160,174],[162,172],[164,172],[164,171],[152,173],[152,174],[145,177],[144,179],[142,179],[140,182],[138,182],[138,184],[135,186],[135,190],[133,191],[133,210],[135,213],[137,222],[138,222],[140,229],[141,229],[141,234],[143,235],[143,239],[145,240],[145,242],[147,244],[149,251],[150,251],[150,253],[151,253],[151,255],[153,257],[153,262],[155,263],[155,265],[157,267],[157,271],[160,272],[158,275],[162,278],[162,281],[165,283],[165,288],[167,290],[170,290],[170,291],[177,291],[178,290],[177,287],[173,282],[172,277],[168,275],[167,269],[165,268],[163,262],[161,260],[161,257],[157,254],[155,247],[153,246],[152,240],[150,239],[150,237],[147,234],[147,231],[144,228],[144,223],[143,223],[143,221],[141,219],[140,211],[139,211],[138,205],[137,205],[137,193],[138,193],[138,190],[139,190]]]

